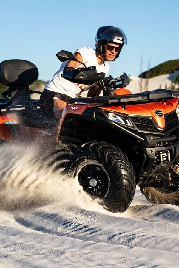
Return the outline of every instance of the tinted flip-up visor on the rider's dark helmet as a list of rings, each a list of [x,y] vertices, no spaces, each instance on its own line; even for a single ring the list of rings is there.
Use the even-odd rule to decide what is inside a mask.
[[[118,27],[110,27],[98,36],[98,40],[106,40],[114,43],[126,45],[127,38],[123,30]]]

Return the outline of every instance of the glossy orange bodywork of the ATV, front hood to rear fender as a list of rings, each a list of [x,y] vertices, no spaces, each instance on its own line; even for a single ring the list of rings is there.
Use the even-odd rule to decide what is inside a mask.
[[[130,91],[126,89],[117,89],[117,93],[121,94],[130,94]],[[61,126],[63,124],[64,118],[67,114],[82,114],[87,107],[95,107],[101,108],[104,111],[123,113],[126,115],[135,115],[135,116],[151,116],[157,126],[161,129],[165,127],[165,119],[164,116],[157,117],[155,115],[156,110],[161,110],[163,114],[172,112],[176,109],[178,104],[178,98],[166,99],[164,104],[160,101],[158,102],[148,102],[148,103],[140,103],[140,104],[130,104],[126,105],[125,109],[121,106],[100,106],[95,104],[69,104],[65,107],[62,118],[53,130],[44,130],[39,128],[28,127],[24,124],[19,123],[14,115],[11,113],[10,116],[2,114],[0,116],[0,140],[5,141],[17,141],[28,139],[29,141],[39,140],[48,140],[53,139],[53,141],[58,141],[58,136],[60,133]],[[16,119],[15,119],[16,118]]]

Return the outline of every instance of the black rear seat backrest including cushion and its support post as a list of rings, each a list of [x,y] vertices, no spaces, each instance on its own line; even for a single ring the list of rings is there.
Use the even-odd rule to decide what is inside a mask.
[[[9,86],[12,102],[29,102],[29,85],[37,78],[38,69],[28,60],[4,60],[0,63],[0,82]]]

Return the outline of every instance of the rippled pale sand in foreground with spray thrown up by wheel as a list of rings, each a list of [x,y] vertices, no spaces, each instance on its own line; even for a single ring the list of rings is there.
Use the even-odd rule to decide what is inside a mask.
[[[112,214],[35,150],[0,155],[0,267],[179,267],[178,207],[152,205],[137,187]]]

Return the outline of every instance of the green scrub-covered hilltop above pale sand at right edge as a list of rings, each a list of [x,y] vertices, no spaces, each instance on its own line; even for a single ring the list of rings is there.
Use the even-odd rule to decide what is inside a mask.
[[[171,74],[179,70],[179,59],[168,60],[139,75],[141,78],[152,78],[162,74]]]

